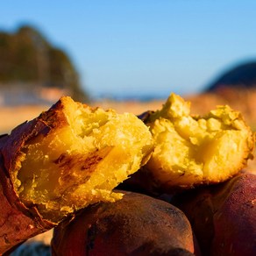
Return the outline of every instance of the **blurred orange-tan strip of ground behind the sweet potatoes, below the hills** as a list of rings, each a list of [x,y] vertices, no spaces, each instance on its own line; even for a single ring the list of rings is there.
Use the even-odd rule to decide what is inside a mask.
[[[256,130],[256,90],[245,91],[244,93],[224,92],[223,96],[215,94],[201,94],[183,96],[191,103],[191,113],[203,115],[216,108],[217,105],[229,104],[234,110],[239,110],[247,124],[252,130]],[[146,110],[159,110],[166,99],[153,101],[112,101],[102,100],[89,103],[92,107],[102,107],[104,110],[113,109],[118,113],[131,112],[139,115]],[[11,132],[11,129],[37,117],[43,110],[48,110],[50,105],[0,105],[0,133]],[[255,128],[255,129],[254,129]]]

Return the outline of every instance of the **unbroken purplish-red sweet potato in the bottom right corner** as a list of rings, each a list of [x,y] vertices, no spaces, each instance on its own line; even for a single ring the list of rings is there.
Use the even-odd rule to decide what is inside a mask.
[[[177,196],[203,255],[251,256],[256,252],[256,175],[238,174],[222,184]]]

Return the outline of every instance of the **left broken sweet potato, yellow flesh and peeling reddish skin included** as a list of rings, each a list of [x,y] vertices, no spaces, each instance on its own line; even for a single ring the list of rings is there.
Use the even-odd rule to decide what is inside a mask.
[[[112,189],[146,163],[153,142],[132,114],[62,97],[0,138],[0,253],[76,210],[122,197]]]

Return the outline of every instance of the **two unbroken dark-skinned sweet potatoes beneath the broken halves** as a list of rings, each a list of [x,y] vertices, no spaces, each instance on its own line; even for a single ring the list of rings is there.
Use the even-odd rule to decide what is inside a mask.
[[[82,210],[55,228],[53,255],[255,255],[256,175],[160,199],[125,192]]]

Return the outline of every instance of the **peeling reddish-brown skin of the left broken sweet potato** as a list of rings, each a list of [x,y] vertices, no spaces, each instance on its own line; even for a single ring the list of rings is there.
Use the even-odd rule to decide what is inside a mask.
[[[25,205],[20,201],[11,173],[25,143],[46,136],[56,125],[56,120],[58,125],[65,124],[61,115],[60,100],[39,117],[18,125],[10,135],[0,136],[0,254],[8,254],[14,246],[55,225],[40,216],[36,205]]]

